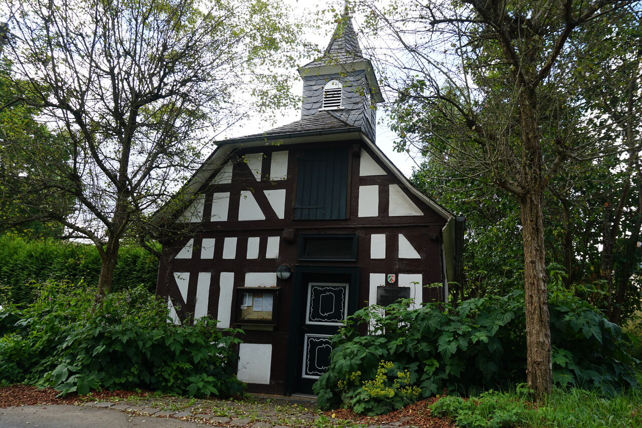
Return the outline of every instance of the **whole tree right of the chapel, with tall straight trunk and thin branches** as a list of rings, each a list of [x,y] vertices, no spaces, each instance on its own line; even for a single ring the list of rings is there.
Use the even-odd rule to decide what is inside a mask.
[[[630,3],[466,0],[395,2],[380,10],[360,2],[370,24],[388,30],[401,49],[397,74],[387,80],[398,94],[392,117],[399,145],[417,145],[471,183],[507,192],[519,206],[526,374],[538,396],[550,392],[553,379],[547,186],[569,165],[621,152],[589,127],[586,82],[571,80],[589,66],[608,69],[609,58],[596,55],[605,45],[577,38],[587,28],[608,34],[632,13],[625,8]]]

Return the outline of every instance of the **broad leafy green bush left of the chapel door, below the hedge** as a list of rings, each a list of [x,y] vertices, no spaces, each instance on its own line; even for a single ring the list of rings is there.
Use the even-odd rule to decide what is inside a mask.
[[[0,316],[0,382],[92,388],[143,388],[191,396],[241,393],[233,347],[239,330],[216,321],[168,323],[168,308],[143,287],[108,294],[94,314],[95,290],[60,284],[12,316]],[[6,308],[5,308],[6,310]]]

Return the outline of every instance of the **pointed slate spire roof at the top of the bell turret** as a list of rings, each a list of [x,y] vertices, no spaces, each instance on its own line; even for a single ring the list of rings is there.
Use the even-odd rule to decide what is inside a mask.
[[[357,34],[352,26],[352,18],[345,14],[342,21],[339,22],[330,44],[325,48],[324,55],[318,60],[309,62],[302,68],[320,67],[328,64],[348,64],[350,62],[360,62],[365,58],[361,53]]]

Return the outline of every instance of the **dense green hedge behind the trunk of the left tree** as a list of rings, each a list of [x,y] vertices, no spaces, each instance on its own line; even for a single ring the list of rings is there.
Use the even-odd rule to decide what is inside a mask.
[[[46,281],[69,281],[81,288],[98,284],[101,260],[93,245],[56,240],[24,240],[0,236],[0,305],[24,307],[38,296]],[[158,260],[141,247],[123,246],[114,269],[112,291],[144,285],[153,292]]]

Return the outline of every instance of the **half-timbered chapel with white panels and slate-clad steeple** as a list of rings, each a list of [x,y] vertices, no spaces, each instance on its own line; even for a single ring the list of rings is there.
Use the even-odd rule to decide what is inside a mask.
[[[193,227],[164,240],[157,285],[175,322],[243,328],[238,378],[285,395],[311,393],[358,308],[446,300],[461,253],[462,218],[376,145],[383,98],[349,17],[299,73],[300,120],[220,141],[180,192],[189,206],[163,211]]]

